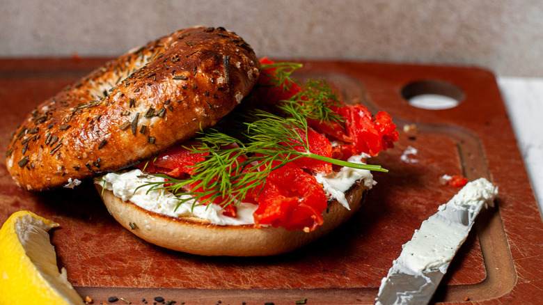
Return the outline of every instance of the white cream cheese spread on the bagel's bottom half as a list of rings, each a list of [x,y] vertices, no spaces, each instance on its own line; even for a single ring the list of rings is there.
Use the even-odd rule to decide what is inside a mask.
[[[361,161],[363,157],[365,156],[354,156],[348,161],[361,164],[363,163]],[[347,209],[349,209],[349,203],[345,198],[345,191],[349,187],[358,180],[361,180],[368,189],[377,183],[373,180],[370,171],[348,167],[343,167],[340,171],[328,175],[316,174],[315,178],[317,182],[323,185],[326,196],[336,198]],[[150,190],[151,185],[149,184],[151,182],[164,182],[164,178],[147,175],[139,169],[134,169],[125,173],[108,173],[101,180],[97,180],[96,183],[109,191],[113,191],[113,194],[123,201],[131,201],[151,212],[171,217],[198,217],[221,226],[255,223],[253,212],[258,208],[258,205],[253,203],[239,203],[236,217],[228,217],[223,215],[221,206],[214,203],[198,205],[194,204],[194,201],[185,201],[180,204],[178,198],[190,198],[190,196],[175,196],[171,192],[161,189]]]

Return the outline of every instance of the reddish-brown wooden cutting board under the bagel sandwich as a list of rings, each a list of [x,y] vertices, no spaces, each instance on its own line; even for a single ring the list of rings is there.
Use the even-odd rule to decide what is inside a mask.
[[[0,147],[36,104],[106,58],[0,60]],[[388,173],[363,208],[330,235],[265,258],[176,253],[140,240],[113,220],[91,181],[75,189],[19,189],[0,161],[0,221],[31,210],[61,224],[52,231],[58,265],[95,304],[116,296],[149,304],[372,304],[392,260],[420,223],[459,188],[443,175],[485,177],[499,187],[453,260],[434,302],[533,304],[543,291],[543,223],[494,75],[479,68],[343,61],[304,62],[297,77],[322,77],[348,101],[384,110],[400,130],[395,148],[370,159]],[[455,97],[457,107],[411,106],[423,93]],[[418,134],[406,133],[414,125]],[[402,158],[411,148],[416,154]],[[466,301],[467,300],[467,301]],[[123,301],[118,301],[123,304]]]

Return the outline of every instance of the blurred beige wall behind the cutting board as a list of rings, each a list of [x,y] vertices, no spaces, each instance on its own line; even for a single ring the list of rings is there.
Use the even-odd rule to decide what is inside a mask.
[[[117,56],[194,25],[259,56],[476,65],[543,77],[541,0],[0,0],[0,57]]]

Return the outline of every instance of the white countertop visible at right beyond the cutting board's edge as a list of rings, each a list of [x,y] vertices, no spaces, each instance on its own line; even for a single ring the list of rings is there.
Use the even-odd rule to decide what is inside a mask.
[[[543,78],[497,77],[497,81],[541,212],[543,210]]]

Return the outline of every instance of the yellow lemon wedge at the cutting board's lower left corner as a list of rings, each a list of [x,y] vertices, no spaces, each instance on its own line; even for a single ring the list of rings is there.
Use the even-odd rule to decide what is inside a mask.
[[[13,213],[0,229],[0,304],[84,304],[58,272],[49,241],[58,224],[33,212]]]

